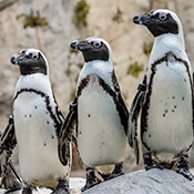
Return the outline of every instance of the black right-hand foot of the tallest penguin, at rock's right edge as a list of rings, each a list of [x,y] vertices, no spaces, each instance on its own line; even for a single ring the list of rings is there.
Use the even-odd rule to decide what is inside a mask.
[[[187,180],[192,181],[194,176],[188,171],[188,155],[182,155],[175,169],[176,173],[182,174]]]

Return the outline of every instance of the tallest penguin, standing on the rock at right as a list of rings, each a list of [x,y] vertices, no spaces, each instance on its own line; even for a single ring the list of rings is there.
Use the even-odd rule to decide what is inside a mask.
[[[193,142],[193,72],[185,52],[183,27],[166,9],[133,18],[154,37],[149,67],[130,109],[129,142],[137,147],[137,118],[145,170],[171,169],[188,180]]]

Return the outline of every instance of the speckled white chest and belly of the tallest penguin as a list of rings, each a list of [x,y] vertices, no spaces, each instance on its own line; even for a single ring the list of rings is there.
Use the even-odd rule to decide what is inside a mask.
[[[188,73],[183,63],[156,65],[143,141],[155,152],[177,154],[193,141],[193,108]]]

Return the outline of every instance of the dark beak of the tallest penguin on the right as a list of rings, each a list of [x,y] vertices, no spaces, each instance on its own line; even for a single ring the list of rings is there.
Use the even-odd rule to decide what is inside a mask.
[[[143,24],[145,27],[151,27],[153,24],[155,24],[155,20],[153,20],[151,13],[141,13],[141,14],[136,14],[133,18],[133,22],[136,24]]]

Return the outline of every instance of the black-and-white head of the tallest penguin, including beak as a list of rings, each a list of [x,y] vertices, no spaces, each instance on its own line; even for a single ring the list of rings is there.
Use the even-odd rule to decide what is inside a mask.
[[[133,22],[147,27],[154,37],[166,33],[181,34],[182,24],[177,16],[166,9],[153,10],[149,13],[141,13],[133,18]]]

